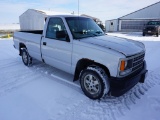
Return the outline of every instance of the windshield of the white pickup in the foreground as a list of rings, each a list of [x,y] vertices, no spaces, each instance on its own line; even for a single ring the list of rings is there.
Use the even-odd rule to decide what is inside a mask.
[[[105,35],[102,29],[90,18],[66,17],[74,39]]]

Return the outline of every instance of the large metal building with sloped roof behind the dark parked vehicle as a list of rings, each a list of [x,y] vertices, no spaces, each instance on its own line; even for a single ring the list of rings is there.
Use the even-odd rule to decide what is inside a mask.
[[[150,20],[160,20],[160,1],[114,20],[106,20],[107,32],[138,32]]]

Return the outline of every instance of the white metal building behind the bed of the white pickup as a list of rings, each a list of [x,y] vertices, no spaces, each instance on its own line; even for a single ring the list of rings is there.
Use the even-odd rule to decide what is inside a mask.
[[[28,9],[19,17],[21,30],[43,30],[48,15],[71,15],[71,13]]]

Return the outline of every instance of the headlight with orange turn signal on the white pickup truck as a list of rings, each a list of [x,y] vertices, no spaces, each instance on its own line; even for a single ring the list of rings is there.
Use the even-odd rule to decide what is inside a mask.
[[[121,59],[119,66],[119,75],[124,76],[129,74],[132,71],[132,59]]]

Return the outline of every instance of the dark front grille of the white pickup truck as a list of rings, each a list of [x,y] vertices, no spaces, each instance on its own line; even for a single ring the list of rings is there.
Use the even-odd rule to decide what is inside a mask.
[[[135,72],[135,71],[143,68],[144,56],[145,56],[145,53],[141,53],[139,55],[136,55],[133,58],[132,72]]]

